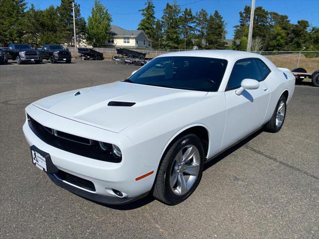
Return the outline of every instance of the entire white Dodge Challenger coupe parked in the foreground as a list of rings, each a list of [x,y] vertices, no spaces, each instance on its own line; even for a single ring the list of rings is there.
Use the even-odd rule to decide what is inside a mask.
[[[175,205],[203,164],[261,127],[278,132],[295,77],[258,54],[163,54],[128,79],[26,107],[32,162],[74,194],[105,204],[146,196]]]

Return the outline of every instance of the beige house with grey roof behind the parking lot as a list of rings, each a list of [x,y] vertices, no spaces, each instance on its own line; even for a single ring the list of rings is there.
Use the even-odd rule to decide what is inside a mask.
[[[123,48],[152,48],[152,41],[142,30],[126,30],[122,27],[111,25],[111,38],[106,46]]]

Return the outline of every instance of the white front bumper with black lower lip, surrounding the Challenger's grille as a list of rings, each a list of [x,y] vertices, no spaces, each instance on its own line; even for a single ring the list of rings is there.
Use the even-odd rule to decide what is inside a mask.
[[[40,150],[49,153],[52,163],[59,170],[92,182],[95,191],[68,184],[55,174],[48,174],[56,185],[84,198],[105,204],[125,204],[145,196],[152,189],[158,164],[145,166],[136,146],[128,137],[65,119],[32,105],[26,108],[26,112],[42,125],[78,136],[85,135],[94,140],[114,143],[121,148],[123,157],[120,163],[87,158],[46,144],[33,133],[26,121],[23,125],[23,132],[28,144],[35,145]],[[62,125],[63,128],[61,128]],[[79,132],[84,135],[79,135]],[[154,171],[152,175],[136,181],[136,178],[151,171]],[[122,192],[123,198],[116,196],[112,189]]]

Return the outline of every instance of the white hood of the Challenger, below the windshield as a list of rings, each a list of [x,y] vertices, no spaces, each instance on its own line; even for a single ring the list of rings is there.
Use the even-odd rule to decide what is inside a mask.
[[[196,104],[206,94],[207,92],[114,82],[46,97],[33,105],[67,119],[120,132],[137,122]],[[136,104],[108,106],[110,101]]]

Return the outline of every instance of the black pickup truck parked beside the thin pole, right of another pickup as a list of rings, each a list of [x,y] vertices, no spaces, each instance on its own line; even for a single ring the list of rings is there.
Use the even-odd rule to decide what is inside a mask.
[[[52,64],[57,61],[71,63],[71,52],[61,45],[44,45],[40,50],[40,55],[42,59],[50,60]]]

